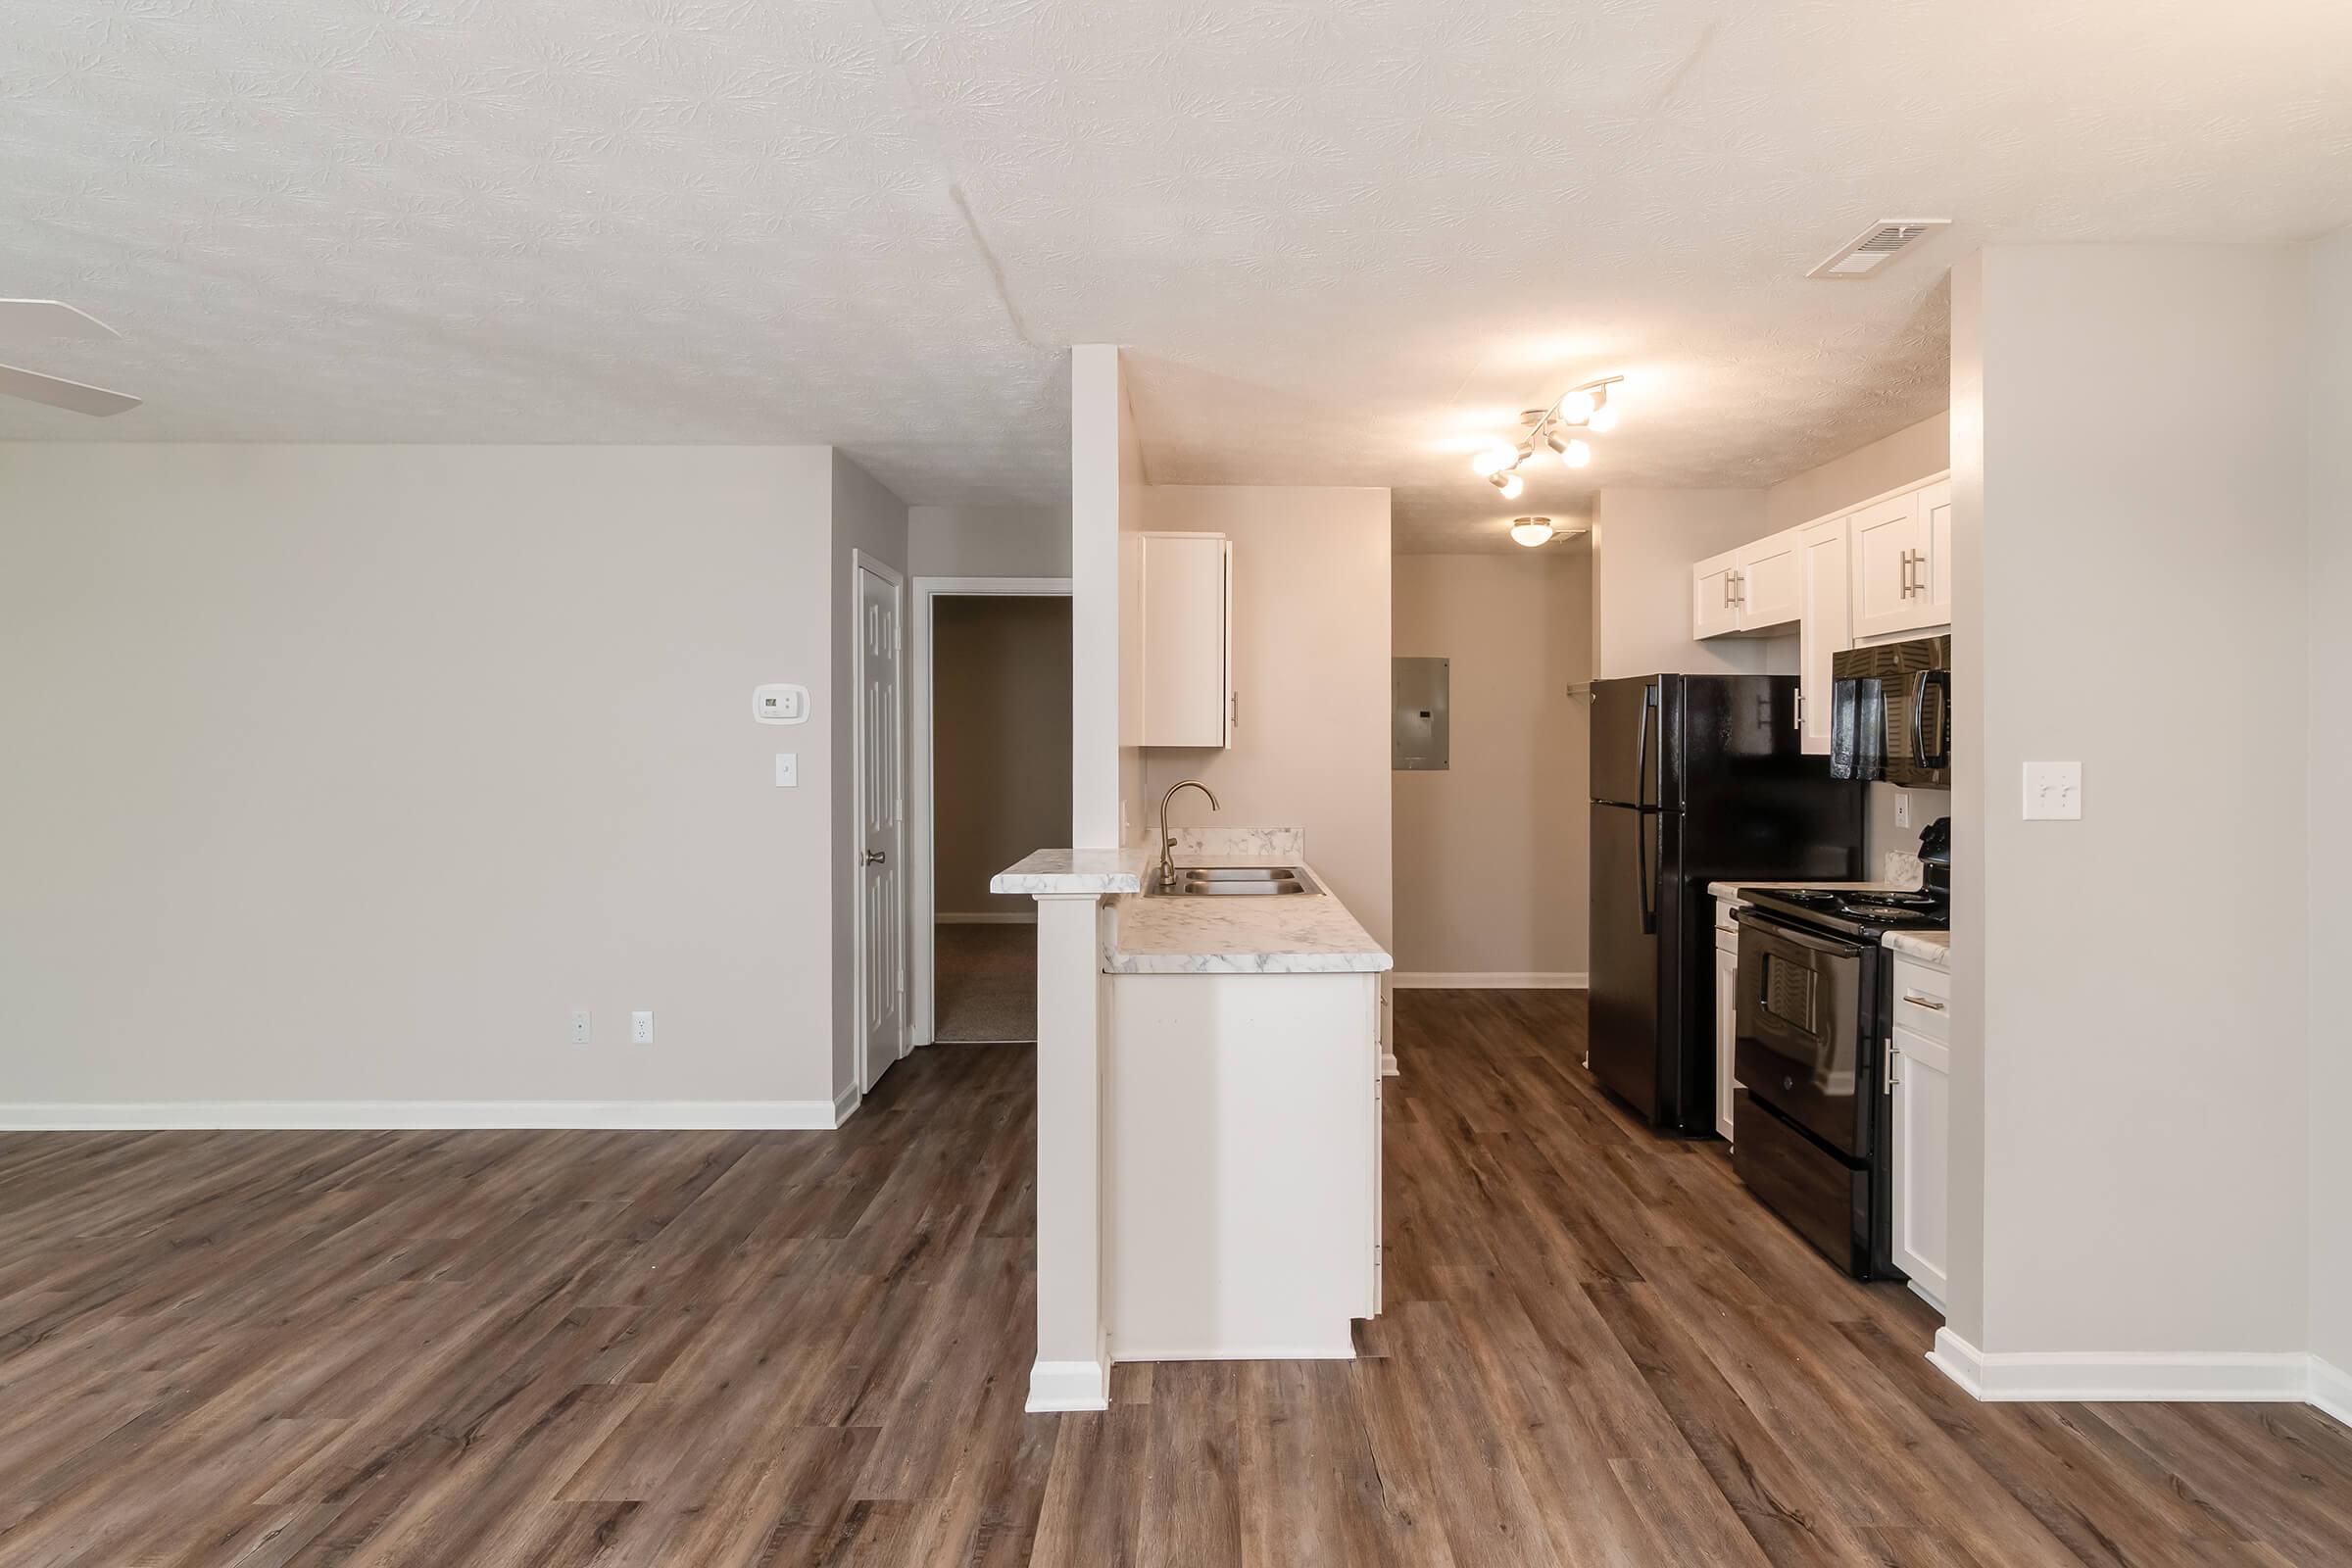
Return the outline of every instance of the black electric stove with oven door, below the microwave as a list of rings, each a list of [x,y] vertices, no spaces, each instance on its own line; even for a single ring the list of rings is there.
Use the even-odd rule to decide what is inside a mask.
[[[1731,1164],[1856,1279],[1903,1279],[1886,1145],[1889,931],[1952,924],[1950,823],[1919,835],[1924,884],[1743,889]]]

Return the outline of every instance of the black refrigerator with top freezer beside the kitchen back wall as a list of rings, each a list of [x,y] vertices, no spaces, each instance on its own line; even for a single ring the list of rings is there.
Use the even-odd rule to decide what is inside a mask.
[[[1708,884],[1860,877],[1863,785],[1799,748],[1795,675],[1592,682],[1592,1077],[1712,1133]]]

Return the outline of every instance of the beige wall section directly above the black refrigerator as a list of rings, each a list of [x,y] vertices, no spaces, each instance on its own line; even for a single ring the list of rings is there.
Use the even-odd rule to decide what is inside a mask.
[[[1604,489],[1592,503],[1592,675],[1795,675],[1797,639],[1691,639],[1691,567],[1764,538],[1759,489]]]

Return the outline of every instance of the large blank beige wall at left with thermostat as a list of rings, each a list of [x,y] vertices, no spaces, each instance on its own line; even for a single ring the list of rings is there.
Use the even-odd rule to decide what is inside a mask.
[[[0,447],[0,1103],[828,1100],[833,480]]]

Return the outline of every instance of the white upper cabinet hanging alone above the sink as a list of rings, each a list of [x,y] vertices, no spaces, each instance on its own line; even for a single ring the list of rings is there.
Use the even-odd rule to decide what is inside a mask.
[[[1138,576],[1138,745],[1225,745],[1232,717],[1232,543],[1223,534],[1143,534]]]

